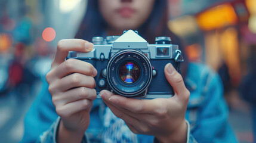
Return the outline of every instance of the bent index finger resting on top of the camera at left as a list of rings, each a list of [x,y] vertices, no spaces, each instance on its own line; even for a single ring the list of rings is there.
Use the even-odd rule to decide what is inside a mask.
[[[90,52],[92,48],[92,43],[82,39],[63,39],[58,42],[52,68],[61,64],[66,59],[69,51]]]

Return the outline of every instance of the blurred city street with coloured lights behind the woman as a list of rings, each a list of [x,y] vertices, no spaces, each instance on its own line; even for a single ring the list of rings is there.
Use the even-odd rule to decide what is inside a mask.
[[[74,38],[86,5],[86,0],[0,0],[0,142],[20,141],[24,115],[41,90],[57,42]],[[256,0],[169,0],[169,7],[169,29],[185,42],[190,61],[220,74],[236,136],[252,142],[256,94],[239,91],[256,82],[249,80],[255,79]]]

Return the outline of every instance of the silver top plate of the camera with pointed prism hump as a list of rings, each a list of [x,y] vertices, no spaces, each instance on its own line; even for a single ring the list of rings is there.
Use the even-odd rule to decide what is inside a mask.
[[[156,55],[157,48],[169,48],[169,54]],[[94,48],[90,52],[76,52],[76,57],[109,60],[111,57],[113,57],[113,55],[122,49],[136,49],[144,54],[147,54],[149,59],[174,59],[172,55],[176,55],[175,51],[178,49],[178,45],[148,44],[147,41],[141,38],[141,36],[138,36],[137,33],[132,30],[128,30],[124,33],[124,35],[116,39],[113,44],[94,45]],[[109,52],[111,52],[110,57]],[[104,58],[102,55],[104,55]]]

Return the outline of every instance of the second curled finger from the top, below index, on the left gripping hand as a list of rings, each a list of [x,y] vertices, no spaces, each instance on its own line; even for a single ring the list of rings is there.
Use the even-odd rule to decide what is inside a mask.
[[[84,74],[80,73],[73,73],[58,80],[57,83],[53,85],[53,87],[49,88],[58,89],[59,91],[63,92],[67,91],[68,89],[81,86],[87,88],[95,88],[96,83],[94,78],[91,76],[85,76]]]

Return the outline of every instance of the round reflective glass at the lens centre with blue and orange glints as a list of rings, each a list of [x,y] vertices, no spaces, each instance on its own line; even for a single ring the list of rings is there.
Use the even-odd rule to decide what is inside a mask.
[[[134,63],[125,63],[119,69],[119,77],[125,83],[135,83],[140,77],[140,69]]]

